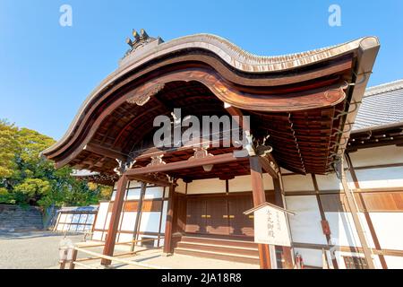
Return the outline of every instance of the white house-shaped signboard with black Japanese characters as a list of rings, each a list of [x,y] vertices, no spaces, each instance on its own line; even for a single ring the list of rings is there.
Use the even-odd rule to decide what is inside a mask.
[[[286,217],[290,212],[266,203],[246,213],[254,213],[254,242],[291,247]]]

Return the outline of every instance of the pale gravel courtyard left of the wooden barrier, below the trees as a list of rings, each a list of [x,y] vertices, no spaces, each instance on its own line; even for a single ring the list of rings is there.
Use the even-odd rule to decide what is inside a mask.
[[[0,233],[0,269],[47,269],[58,265],[64,234],[50,231]],[[83,235],[68,234],[73,243]]]

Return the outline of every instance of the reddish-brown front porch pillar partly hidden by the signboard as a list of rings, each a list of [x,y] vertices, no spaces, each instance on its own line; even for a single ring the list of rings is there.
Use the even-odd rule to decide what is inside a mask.
[[[258,156],[250,157],[249,164],[251,166],[253,206],[258,206],[266,202],[262,178],[262,165]],[[269,245],[259,244],[258,248],[261,269],[271,269]]]

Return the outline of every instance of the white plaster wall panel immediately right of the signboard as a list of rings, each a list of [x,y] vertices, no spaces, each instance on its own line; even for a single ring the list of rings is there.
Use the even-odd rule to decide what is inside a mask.
[[[315,196],[286,196],[287,209],[296,213],[289,216],[294,242],[326,244],[322,232],[321,213]]]

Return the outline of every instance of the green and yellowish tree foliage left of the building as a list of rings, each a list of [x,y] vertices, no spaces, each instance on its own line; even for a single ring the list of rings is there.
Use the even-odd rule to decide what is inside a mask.
[[[82,206],[110,196],[110,187],[76,180],[70,168],[55,170],[39,157],[53,143],[46,135],[0,120],[0,203]]]

